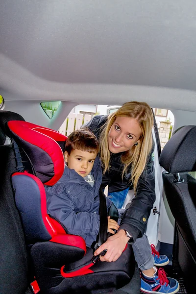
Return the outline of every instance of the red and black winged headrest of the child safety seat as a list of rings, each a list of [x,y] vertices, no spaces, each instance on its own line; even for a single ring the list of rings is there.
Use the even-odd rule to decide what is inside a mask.
[[[24,121],[9,121],[10,134],[30,159],[37,177],[43,184],[52,186],[64,171],[64,156],[57,143],[67,137],[46,127]]]

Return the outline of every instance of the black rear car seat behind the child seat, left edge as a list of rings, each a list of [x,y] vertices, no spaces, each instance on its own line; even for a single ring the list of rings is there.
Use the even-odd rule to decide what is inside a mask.
[[[0,293],[25,294],[29,277],[28,254],[11,187],[11,174],[17,171],[15,155],[4,128],[10,119],[24,121],[16,113],[0,110]]]

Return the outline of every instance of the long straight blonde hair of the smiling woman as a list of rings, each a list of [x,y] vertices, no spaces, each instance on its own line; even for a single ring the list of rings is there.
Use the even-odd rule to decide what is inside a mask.
[[[133,182],[134,192],[136,194],[138,180],[146,167],[148,156],[152,148],[151,131],[153,127],[153,114],[146,102],[131,101],[124,103],[115,113],[108,116],[107,122],[102,126],[99,137],[100,158],[104,167],[103,174],[109,171],[110,151],[108,149],[108,133],[117,117],[136,119],[142,130],[138,145],[133,145],[130,150],[123,152],[121,157],[122,163],[124,164],[122,178],[131,165],[130,181]]]

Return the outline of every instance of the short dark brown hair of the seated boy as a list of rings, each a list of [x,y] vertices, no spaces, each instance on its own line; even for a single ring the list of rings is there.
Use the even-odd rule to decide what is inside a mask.
[[[74,149],[90,153],[98,152],[98,139],[87,129],[75,130],[67,138],[64,151],[67,151],[70,155]]]

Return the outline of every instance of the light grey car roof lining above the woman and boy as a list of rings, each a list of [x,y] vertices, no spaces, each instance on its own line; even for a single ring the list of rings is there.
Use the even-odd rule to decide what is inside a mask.
[[[13,1],[0,9],[0,94],[196,111],[194,0]]]

